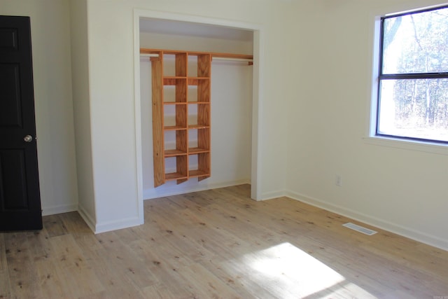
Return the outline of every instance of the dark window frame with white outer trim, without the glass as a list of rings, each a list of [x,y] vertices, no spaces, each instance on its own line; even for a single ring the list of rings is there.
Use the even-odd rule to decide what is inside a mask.
[[[437,11],[439,9],[448,8],[448,5],[443,6],[435,6],[431,8],[422,8],[414,11],[407,11],[405,13],[394,13],[391,15],[384,15],[379,20],[379,64],[377,69],[377,90],[376,90],[376,113],[374,120],[374,136],[382,137],[382,138],[391,138],[397,140],[405,140],[405,141],[414,141],[418,143],[424,144],[440,144],[440,145],[448,145],[448,141],[437,140],[437,139],[424,139],[418,137],[406,137],[406,136],[398,136],[393,134],[384,134],[379,132],[379,111],[381,107],[381,81],[384,80],[397,80],[397,79],[436,79],[436,78],[447,78],[448,79],[448,71],[445,72],[429,72],[429,73],[401,73],[401,74],[383,74],[383,60],[384,60],[384,20],[389,18],[397,18],[402,17],[404,15],[413,15],[416,13],[425,13],[428,11]]]

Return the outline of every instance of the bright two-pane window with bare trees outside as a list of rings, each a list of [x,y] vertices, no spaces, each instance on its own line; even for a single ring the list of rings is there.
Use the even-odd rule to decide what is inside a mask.
[[[381,18],[376,136],[448,144],[448,7]]]

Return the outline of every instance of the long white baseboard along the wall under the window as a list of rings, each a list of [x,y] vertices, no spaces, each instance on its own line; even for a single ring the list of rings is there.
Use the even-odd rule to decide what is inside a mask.
[[[391,223],[389,221],[385,221],[380,218],[372,217],[363,213],[359,213],[358,211],[353,211],[352,209],[347,209],[345,207],[340,207],[336,204],[330,204],[328,202],[323,202],[321,200],[317,200],[316,198],[308,197],[307,195],[302,195],[299,193],[294,193],[291,191],[287,191],[287,197],[292,198],[293,200],[299,200],[300,202],[305,202],[307,204],[311,204],[315,207],[320,207],[321,209],[326,209],[328,211],[332,211],[334,213],[340,214],[342,216],[346,216],[352,218],[356,221],[360,221],[366,223],[368,225],[372,225],[377,228],[381,228],[382,230],[387,230],[388,232],[393,232],[397,235],[401,235],[403,237],[407,237],[409,239],[414,239],[415,241],[422,242],[431,246],[435,246],[437,248],[448,251],[448,240],[440,239],[439,237],[435,237],[433,235],[428,235],[423,232],[419,232],[417,230],[412,230],[409,228],[405,228],[396,223]]]

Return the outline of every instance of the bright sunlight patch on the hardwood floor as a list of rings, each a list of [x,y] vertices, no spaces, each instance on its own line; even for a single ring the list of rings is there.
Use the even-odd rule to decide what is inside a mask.
[[[375,298],[308,253],[286,242],[243,257],[251,279],[278,298]]]

